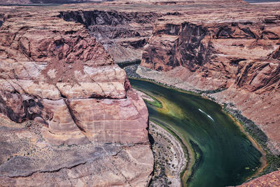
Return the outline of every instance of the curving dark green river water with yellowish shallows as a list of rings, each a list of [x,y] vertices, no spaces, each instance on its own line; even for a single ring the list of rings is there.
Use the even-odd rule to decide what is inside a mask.
[[[169,127],[193,148],[196,162],[187,186],[239,185],[260,167],[262,154],[220,105],[148,81],[130,83],[162,102],[162,108],[146,102],[150,120]]]

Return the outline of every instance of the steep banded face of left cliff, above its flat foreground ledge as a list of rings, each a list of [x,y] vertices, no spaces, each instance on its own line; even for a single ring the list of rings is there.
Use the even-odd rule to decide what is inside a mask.
[[[1,27],[1,44],[0,109],[11,120],[42,118],[52,140],[67,132],[77,141],[147,141],[144,102],[83,26],[11,18]]]

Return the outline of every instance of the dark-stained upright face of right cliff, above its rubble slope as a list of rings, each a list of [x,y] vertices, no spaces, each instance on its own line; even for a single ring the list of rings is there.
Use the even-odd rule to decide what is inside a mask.
[[[190,22],[182,22],[184,19]],[[232,20],[222,23],[195,21],[192,22],[190,18],[160,18],[153,36],[144,48],[141,65],[160,71],[169,71],[179,66],[186,67],[191,73],[199,74],[197,78],[203,83],[198,85],[198,89],[202,90],[228,87],[234,82],[238,82],[239,87],[242,83],[251,84],[251,81],[241,78],[247,74],[251,64],[255,64],[253,69],[256,72],[261,71],[269,63],[274,64],[272,65],[274,70],[268,70],[268,67],[265,69],[274,72],[271,77],[279,72],[278,60],[273,60],[278,51],[278,21],[269,25],[265,20],[263,22]],[[258,65],[248,60],[257,61]],[[245,64],[246,72],[242,73]],[[254,71],[253,69],[251,71]],[[213,83],[213,80],[216,83]],[[205,83],[209,81],[211,84],[205,88]],[[278,76],[273,78],[272,82],[277,81]],[[255,85],[257,82],[255,79],[248,89],[255,91],[264,86]],[[272,82],[268,84],[273,84]],[[256,86],[258,88],[255,88]],[[274,85],[274,88],[277,87]]]

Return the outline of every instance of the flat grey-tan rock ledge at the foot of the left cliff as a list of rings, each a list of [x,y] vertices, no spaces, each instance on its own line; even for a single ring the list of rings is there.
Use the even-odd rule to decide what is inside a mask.
[[[0,114],[1,186],[146,186],[153,168],[145,144],[52,146],[41,123]]]

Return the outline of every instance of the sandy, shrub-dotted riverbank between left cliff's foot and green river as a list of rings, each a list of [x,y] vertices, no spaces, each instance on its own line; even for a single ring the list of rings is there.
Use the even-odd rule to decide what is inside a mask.
[[[181,143],[164,128],[150,121],[155,157],[151,186],[181,186],[180,174],[186,167],[186,158]]]

